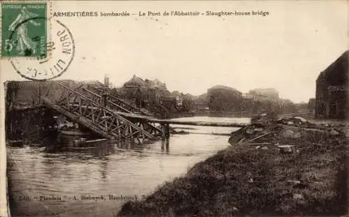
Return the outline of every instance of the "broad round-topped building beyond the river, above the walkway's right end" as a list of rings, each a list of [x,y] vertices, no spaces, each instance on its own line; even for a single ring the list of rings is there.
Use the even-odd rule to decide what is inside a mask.
[[[242,92],[232,87],[216,85],[207,90],[209,110],[222,112],[239,112]]]

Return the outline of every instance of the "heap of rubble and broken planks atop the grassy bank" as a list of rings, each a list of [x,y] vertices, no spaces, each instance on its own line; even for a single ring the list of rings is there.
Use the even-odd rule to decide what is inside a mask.
[[[339,126],[314,124],[297,116],[276,119],[274,114],[260,114],[251,119],[251,125],[232,132],[228,142],[249,144],[261,150],[297,153],[306,145],[318,145],[320,137],[333,136],[345,136],[345,130]]]

